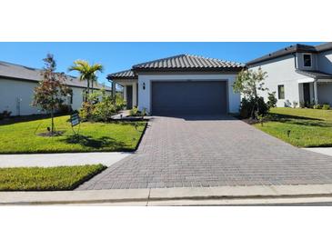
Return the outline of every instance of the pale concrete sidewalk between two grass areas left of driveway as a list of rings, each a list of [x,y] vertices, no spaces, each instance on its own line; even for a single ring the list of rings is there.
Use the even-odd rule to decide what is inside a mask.
[[[110,166],[133,153],[97,152],[64,154],[0,154],[1,167],[51,167],[84,164],[104,164]]]

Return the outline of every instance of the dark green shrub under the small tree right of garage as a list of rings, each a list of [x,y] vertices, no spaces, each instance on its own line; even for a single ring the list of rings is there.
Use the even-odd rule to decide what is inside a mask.
[[[257,104],[258,106],[256,106]],[[255,112],[254,114],[257,115],[267,115],[268,113],[268,106],[264,102],[263,97],[258,97],[257,102],[255,101],[255,98],[243,98],[241,101],[241,107],[240,107],[240,116],[242,118],[248,118],[248,117],[254,117],[252,115],[252,110],[254,107],[258,107],[259,112]],[[255,108],[257,110],[257,108]]]

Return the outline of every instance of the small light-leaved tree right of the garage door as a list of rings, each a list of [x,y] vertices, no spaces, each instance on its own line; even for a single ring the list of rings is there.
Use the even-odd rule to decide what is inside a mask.
[[[236,82],[233,85],[235,93],[243,95],[246,100],[252,102],[250,110],[250,117],[255,118],[256,114],[259,114],[259,103],[261,97],[258,95],[258,91],[267,91],[264,87],[264,80],[267,78],[267,72],[259,67],[257,71],[253,70],[242,70],[236,76]],[[263,100],[264,102],[264,100]]]

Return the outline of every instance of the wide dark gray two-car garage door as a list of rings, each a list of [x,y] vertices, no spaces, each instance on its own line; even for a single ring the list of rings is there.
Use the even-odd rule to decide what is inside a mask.
[[[152,114],[226,114],[226,82],[153,82]]]

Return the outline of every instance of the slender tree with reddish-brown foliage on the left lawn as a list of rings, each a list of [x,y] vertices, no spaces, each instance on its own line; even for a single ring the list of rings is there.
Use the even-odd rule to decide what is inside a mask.
[[[65,101],[65,96],[72,94],[72,89],[65,85],[65,74],[55,73],[56,63],[53,55],[48,54],[45,59],[43,79],[35,87],[34,106],[41,108],[51,115],[51,135],[55,134],[54,115],[55,111]]]

